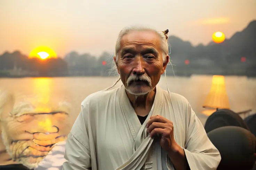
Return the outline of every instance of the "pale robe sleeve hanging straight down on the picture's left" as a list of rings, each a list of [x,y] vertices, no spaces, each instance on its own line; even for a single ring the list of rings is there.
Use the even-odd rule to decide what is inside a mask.
[[[90,145],[86,124],[86,109],[82,106],[66,140],[66,149],[62,170],[89,170],[91,169]]]

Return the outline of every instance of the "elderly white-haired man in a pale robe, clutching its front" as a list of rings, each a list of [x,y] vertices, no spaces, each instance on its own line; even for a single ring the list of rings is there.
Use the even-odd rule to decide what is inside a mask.
[[[167,33],[121,30],[114,62],[123,85],[89,95],[66,141],[64,170],[214,170],[221,156],[181,95],[157,86]]]

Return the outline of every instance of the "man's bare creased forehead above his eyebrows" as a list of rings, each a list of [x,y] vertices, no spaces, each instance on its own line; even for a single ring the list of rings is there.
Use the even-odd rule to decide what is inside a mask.
[[[120,41],[119,53],[124,50],[133,51],[161,51],[161,38],[153,31],[131,31],[124,35]]]

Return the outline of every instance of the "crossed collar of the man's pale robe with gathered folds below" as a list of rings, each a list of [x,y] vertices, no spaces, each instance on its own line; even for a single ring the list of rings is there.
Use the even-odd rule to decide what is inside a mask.
[[[144,165],[148,166],[147,169],[157,169],[158,164],[161,164],[161,159],[156,158],[156,154],[152,152],[161,152],[160,146],[155,148],[153,138],[147,133],[146,123],[149,121],[150,116],[160,115],[163,106],[163,91],[160,87],[156,86],[155,99],[152,109],[147,115],[145,122],[141,125],[135,110],[131,106],[130,100],[127,96],[125,87],[120,87],[119,103],[122,109],[122,114],[125,115],[131,135],[134,139],[133,155],[125,163],[120,165],[116,170],[135,170],[141,169]],[[153,150],[154,151],[153,151]],[[157,149],[157,150],[156,150]],[[149,165],[147,165],[147,163]],[[161,167],[161,166],[160,166]]]

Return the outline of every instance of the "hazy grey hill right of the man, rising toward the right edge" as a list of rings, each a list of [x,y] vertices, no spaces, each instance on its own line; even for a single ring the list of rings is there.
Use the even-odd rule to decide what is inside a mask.
[[[190,42],[170,36],[170,58],[178,75],[227,74],[256,76],[256,20],[223,43],[210,42],[193,47]],[[241,57],[246,59],[241,62]],[[189,64],[184,63],[189,60]],[[171,74],[170,72],[168,72]]]

